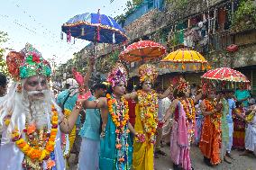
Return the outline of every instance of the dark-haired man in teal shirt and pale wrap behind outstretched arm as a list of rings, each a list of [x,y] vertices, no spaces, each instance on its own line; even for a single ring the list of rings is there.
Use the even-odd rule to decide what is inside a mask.
[[[95,95],[88,101],[94,101],[105,96],[106,86],[96,84],[94,86]],[[98,170],[99,167],[99,147],[100,147],[100,109],[87,109],[86,121],[81,128],[79,135],[82,143],[79,153],[79,170]]]

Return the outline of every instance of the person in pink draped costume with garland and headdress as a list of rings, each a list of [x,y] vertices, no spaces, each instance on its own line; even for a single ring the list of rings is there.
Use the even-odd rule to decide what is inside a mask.
[[[173,114],[172,131],[170,136],[170,157],[174,169],[181,166],[184,170],[190,170],[190,144],[194,140],[196,129],[196,108],[194,103],[200,99],[198,94],[194,99],[189,98],[190,86],[184,78],[180,78],[178,86],[174,90],[175,100],[170,104],[163,122],[169,120]]]

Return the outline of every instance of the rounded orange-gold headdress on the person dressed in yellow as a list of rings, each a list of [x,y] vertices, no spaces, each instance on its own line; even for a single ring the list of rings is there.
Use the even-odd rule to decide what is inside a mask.
[[[153,65],[144,64],[141,67],[139,67],[139,75],[141,83],[147,80],[153,83],[158,77],[158,72],[156,67],[154,67]]]

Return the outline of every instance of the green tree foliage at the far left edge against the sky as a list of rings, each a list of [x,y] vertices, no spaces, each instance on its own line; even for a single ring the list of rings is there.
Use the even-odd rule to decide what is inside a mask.
[[[8,40],[7,33],[0,31],[0,72],[8,75],[8,69],[5,62],[5,49],[3,48],[3,43]]]

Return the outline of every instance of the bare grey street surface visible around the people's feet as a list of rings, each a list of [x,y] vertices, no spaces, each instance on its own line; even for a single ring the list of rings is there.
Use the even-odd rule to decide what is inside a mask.
[[[168,154],[168,156],[155,159],[155,170],[172,170],[172,163],[169,158],[169,147],[164,147],[162,149]],[[241,151],[232,151],[232,155],[235,159],[233,160],[233,164],[227,164],[224,162],[218,166],[209,167],[204,164],[200,150],[197,147],[191,148],[192,164],[195,170],[256,170],[256,157],[252,155],[250,157],[239,156],[241,153]],[[71,166],[72,168],[69,170],[77,169],[76,165],[72,164]]]

